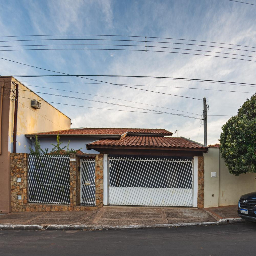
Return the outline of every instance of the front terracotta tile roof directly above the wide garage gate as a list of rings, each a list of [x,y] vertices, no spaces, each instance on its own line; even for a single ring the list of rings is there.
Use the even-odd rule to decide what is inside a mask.
[[[185,138],[156,136],[126,136],[123,139],[102,139],[88,144],[90,148],[97,146],[134,146],[134,147],[168,147],[205,149],[203,145]]]

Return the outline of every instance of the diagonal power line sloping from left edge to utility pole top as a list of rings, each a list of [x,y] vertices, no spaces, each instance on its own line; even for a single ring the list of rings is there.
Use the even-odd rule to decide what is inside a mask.
[[[5,59],[5,58],[0,58],[0,59],[7,60],[7,61],[11,61],[11,62],[14,62],[14,63],[18,63],[18,64],[25,65],[25,66],[28,66],[28,67],[33,67],[33,68],[38,68],[38,69],[42,69],[42,70],[54,72],[54,73],[64,74],[65,76],[75,76],[75,77],[80,77],[80,78],[83,78],[83,79],[88,79],[88,80],[92,80],[92,81],[97,81],[97,82],[102,82],[102,83],[108,83],[108,84],[123,86],[123,87],[132,88],[132,89],[136,89],[136,90],[142,90],[142,91],[160,93],[160,94],[171,95],[171,96],[177,96],[177,97],[182,97],[182,98],[187,98],[187,99],[202,100],[202,99],[197,99],[197,98],[192,98],[192,97],[187,97],[187,96],[181,96],[181,95],[176,95],[176,94],[170,94],[170,93],[164,93],[164,92],[150,91],[150,90],[146,90],[146,89],[130,87],[130,86],[127,86],[127,85],[120,85],[120,84],[109,83],[109,82],[100,81],[100,80],[96,80],[96,79],[92,79],[92,78],[88,78],[88,77],[82,77],[82,76],[77,76],[77,75],[70,75],[70,74],[67,74],[67,73],[58,72],[58,71],[54,71],[54,70],[50,70],[50,69],[45,69],[45,68],[40,68],[40,67],[36,67],[36,66],[24,64],[24,63],[21,63],[21,62],[17,62],[17,61]]]

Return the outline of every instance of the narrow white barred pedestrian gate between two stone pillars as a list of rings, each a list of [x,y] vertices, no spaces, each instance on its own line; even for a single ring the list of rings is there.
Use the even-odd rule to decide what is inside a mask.
[[[81,205],[95,205],[95,159],[81,159],[80,201]]]

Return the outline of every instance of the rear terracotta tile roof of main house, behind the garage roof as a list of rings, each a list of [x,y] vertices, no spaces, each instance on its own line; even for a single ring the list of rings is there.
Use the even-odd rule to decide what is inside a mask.
[[[153,134],[153,135],[172,135],[165,129],[138,129],[138,128],[77,128],[51,132],[39,132],[29,135],[122,135],[124,133],[132,134]]]

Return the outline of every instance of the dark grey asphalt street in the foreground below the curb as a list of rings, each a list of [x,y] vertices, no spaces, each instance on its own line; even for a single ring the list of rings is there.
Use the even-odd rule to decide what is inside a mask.
[[[256,223],[179,228],[0,230],[0,255],[255,255]]]

